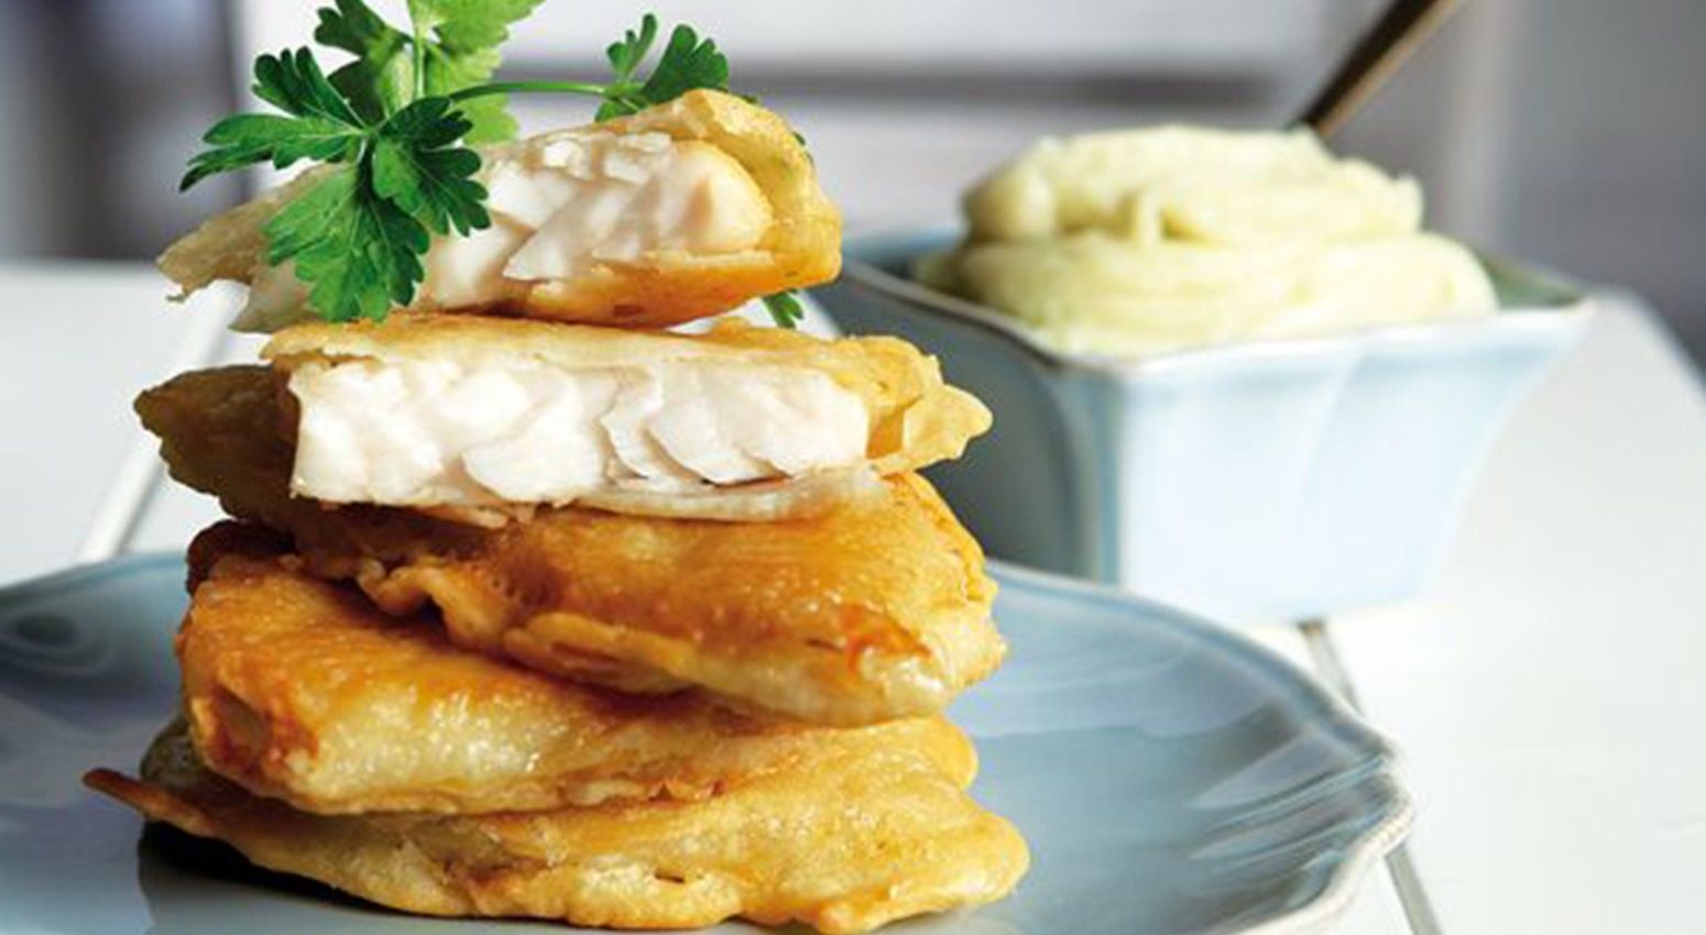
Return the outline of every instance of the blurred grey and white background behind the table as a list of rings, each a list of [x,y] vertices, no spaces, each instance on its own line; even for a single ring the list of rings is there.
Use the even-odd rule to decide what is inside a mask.
[[[198,135],[312,0],[0,0],[0,263],[152,258],[241,179],[177,195]],[[375,3],[394,12],[396,3]],[[645,9],[718,38],[853,229],[950,220],[1042,133],[1280,126],[1380,0],[548,0],[508,77],[592,75]],[[1431,224],[1636,288],[1706,360],[1706,3],[1465,0],[1338,148],[1418,176]],[[527,99],[524,128],[585,118]],[[252,184],[252,183],[251,183]]]

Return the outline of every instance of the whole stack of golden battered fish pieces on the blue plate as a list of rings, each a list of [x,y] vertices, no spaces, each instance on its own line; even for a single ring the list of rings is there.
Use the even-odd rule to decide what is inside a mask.
[[[1001,660],[993,584],[914,473],[988,411],[891,338],[650,329],[836,273],[793,133],[693,92],[483,183],[493,227],[377,324],[292,324],[290,186],[164,258],[285,328],[136,403],[232,519],[189,548],[181,718],[87,781],[428,915],[836,933],[1007,894],[1025,845],[940,713]]]

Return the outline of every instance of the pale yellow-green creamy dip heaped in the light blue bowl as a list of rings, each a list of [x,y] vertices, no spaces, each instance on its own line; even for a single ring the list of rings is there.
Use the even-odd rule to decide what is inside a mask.
[[[969,234],[921,282],[1068,353],[1484,316],[1493,285],[1425,232],[1414,179],[1309,131],[1196,126],[1046,138],[966,198]]]

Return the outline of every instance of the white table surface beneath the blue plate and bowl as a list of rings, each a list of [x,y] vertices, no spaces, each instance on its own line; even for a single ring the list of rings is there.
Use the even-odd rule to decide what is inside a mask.
[[[229,293],[165,292],[142,266],[0,266],[0,584],[215,517],[160,479],[130,399],[254,341],[223,334]],[[1706,394],[1639,302],[1600,307],[1423,595],[1249,630],[1407,758],[1416,831],[1334,933],[1706,925]]]

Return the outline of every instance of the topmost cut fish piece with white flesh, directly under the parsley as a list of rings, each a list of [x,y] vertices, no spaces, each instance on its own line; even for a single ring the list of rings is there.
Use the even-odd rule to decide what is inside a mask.
[[[435,237],[413,309],[667,326],[833,280],[841,217],[793,130],[740,97],[691,90],[631,116],[481,152],[491,227]],[[184,293],[251,287],[239,326],[307,321],[309,288],[270,266],[266,224],[310,171],[160,256]]]

